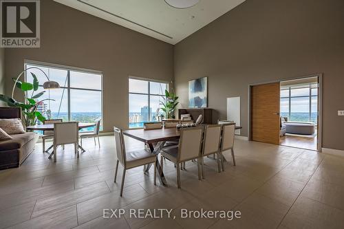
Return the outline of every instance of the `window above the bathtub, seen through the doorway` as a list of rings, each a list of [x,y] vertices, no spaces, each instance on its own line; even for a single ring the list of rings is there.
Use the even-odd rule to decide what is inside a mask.
[[[290,121],[318,121],[318,84],[281,87],[281,116]]]

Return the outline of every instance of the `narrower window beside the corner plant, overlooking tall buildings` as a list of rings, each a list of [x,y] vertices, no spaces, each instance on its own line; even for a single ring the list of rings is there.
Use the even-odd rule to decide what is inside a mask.
[[[158,121],[165,89],[168,89],[166,83],[129,78],[129,128]]]

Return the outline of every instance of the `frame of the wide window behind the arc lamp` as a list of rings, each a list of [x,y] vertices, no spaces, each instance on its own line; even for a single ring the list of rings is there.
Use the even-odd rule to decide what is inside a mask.
[[[24,69],[26,69],[27,65],[31,65],[33,67],[46,67],[46,68],[54,68],[54,69],[61,69],[64,71],[67,71],[67,87],[61,86],[61,89],[66,89],[67,91],[67,117],[68,121],[71,120],[71,98],[70,98],[70,90],[71,89],[77,89],[77,90],[83,90],[83,91],[98,91],[100,92],[100,112],[101,112],[101,120],[100,120],[100,126],[103,127],[104,124],[104,86],[103,86],[103,72],[98,71],[98,70],[93,70],[93,69],[85,69],[85,68],[80,68],[80,67],[71,67],[67,65],[58,65],[58,64],[53,64],[53,63],[45,63],[45,62],[40,62],[40,61],[30,61],[30,60],[24,60]],[[80,87],[70,87],[70,72],[81,72],[85,74],[96,74],[100,76],[100,87],[101,89],[85,89],[85,88],[80,88]],[[25,72],[24,77],[25,81],[27,80],[26,76],[27,72]],[[43,84],[39,84],[39,87],[43,87]],[[92,132],[92,131],[85,131],[83,133],[87,132]]]

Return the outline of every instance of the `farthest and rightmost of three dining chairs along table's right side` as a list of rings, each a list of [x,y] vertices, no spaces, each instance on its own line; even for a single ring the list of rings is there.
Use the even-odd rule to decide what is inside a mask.
[[[235,155],[234,155],[234,138],[235,138],[235,122],[222,124],[222,135],[221,135],[221,146],[220,146],[220,156],[222,171],[224,171],[224,155],[223,151],[230,150],[233,157],[233,165],[235,166]]]

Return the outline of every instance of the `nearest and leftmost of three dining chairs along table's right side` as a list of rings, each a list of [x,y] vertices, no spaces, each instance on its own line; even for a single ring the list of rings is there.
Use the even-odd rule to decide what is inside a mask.
[[[183,162],[197,159],[198,179],[201,179],[200,161],[202,157],[202,135],[203,127],[181,129],[178,146],[166,147],[160,151],[160,165],[163,164],[163,158],[166,158],[177,166],[178,188],[180,188],[180,164]]]

